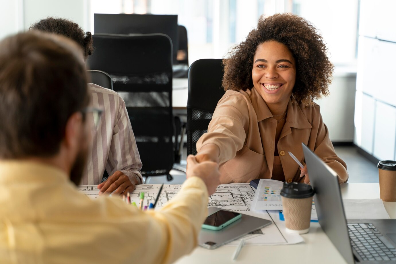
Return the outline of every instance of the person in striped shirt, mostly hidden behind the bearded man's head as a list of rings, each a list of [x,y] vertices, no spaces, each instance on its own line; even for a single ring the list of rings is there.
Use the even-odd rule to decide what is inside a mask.
[[[72,21],[48,17],[31,25],[29,30],[40,30],[65,36],[77,42],[84,52],[84,59],[93,52],[91,32],[84,32]],[[137,150],[124,100],[110,89],[88,84],[91,107],[103,110],[100,122],[92,128],[93,144],[80,184],[98,184],[99,194],[126,195],[143,183],[142,163]],[[103,174],[110,175],[102,181]]]

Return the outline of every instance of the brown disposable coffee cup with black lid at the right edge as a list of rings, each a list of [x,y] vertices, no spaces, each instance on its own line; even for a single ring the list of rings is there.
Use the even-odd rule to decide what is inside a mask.
[[[396,201],[396,161],[378,162],[379,197],[386,202]]]

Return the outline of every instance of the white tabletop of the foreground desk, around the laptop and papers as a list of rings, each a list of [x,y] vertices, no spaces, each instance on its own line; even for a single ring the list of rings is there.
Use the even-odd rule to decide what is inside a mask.
[[[348,199],[379,198],[379,184],[346,183],[341,186],[341,194]],[[390,218],[396,218],[396,202],[384,202],[384,206]],[[309,233],[301,236],[305,242],[296,245],[245,246],[235,262],[231,261],[231,256],[236,247],[223,246],[212,251],[198,247],[175,263],[346,263],[319,223],[311,223]]]

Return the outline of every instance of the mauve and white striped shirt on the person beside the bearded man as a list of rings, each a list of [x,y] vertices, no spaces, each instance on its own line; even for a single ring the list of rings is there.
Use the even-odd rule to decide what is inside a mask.
[[[131,182],[143,183],[142,163],[124,100],[115,91],[89,84],[91,106],[103,110],[101,120],[92,128],[93,144],[80,184],[101,183],[106,169],[109,175],[122,171]]]

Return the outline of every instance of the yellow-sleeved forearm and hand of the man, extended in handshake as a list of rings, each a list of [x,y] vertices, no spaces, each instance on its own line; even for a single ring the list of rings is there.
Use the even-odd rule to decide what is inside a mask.
[[[218,168],[215,162],[198,163],[194,156],[188,156],[187,181],[179,194],[161,211],[148,211],[161,222],[162,236],[152,236],[162,241],[165,248],[158,248],[159,255],[152,263],[174,262],[196,247],[202,223],[208,214],[208,196],[215,192],[220,183]]]

